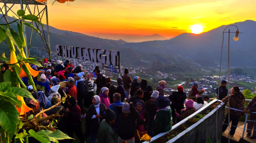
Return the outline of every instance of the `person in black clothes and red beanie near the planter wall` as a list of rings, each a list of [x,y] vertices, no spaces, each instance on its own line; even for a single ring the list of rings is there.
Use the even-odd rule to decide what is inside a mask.
[[[184,101],[187,98],[186,92],[183,91],[182,86],[178,86],[178,91],[174,91],[170,96],[169,99],[172,102],[171,109],[172,109],[172,122],[176,122],[176,114],[175,110],[178,114],[181,114],[181,109],[184,109]]]

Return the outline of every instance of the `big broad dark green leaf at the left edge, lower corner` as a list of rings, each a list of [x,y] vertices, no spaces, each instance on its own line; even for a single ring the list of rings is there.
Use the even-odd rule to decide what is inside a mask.
[[[16,107],[10,102],[0,100],[0,125],[8,134],[14,135],[19,122],[19,113]]]

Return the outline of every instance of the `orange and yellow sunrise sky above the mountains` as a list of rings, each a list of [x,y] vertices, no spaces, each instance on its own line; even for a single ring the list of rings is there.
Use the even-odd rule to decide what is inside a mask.
[[[48,0],[50,26],[127,41],[152,34],[169,39],[256,20],[255,0],[75,0],[70,5],[52,2]]]

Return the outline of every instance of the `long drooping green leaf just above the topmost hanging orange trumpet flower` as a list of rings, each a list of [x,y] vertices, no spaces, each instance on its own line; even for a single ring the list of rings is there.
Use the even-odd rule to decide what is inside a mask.
[[[20,39],[20,36],[18,36],[18,33],[16,33],[12,28],[7,28],[5,33],[11,39],[13,44],[18,47],[18,50],[20,51],[22,48],[22,41]]]

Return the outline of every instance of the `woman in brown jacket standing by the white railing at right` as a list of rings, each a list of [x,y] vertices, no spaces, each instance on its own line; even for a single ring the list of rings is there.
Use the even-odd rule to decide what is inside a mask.
[[[228,104],[229,104],[230,108],[235,108],[236,109],[238,104],[241,104],[241,103],[244,104],[245,103],[244,94],[240,92],[240,89],[239,89],[238,86],[233,86],[231,88],[231,95],[226,96],[225,98],[223,98],[222,102],[227,103],[228,99],[229,99]],[[238,126],[240,116],[236,115],[235,110],[229,109],[229,111],[227,109],[226,118],[225,118],[225,120],[223,122],[223,125],[222,125],[222,132],[225,132],[225,130],[228,128],[228,124],[232,121],[229,135],[234,136],[234,134],[236,132],[236,127]],[[230,116],[229,122],[228,122],[228,118],[229,118],[228,113],[229,113],[229,116]]]

